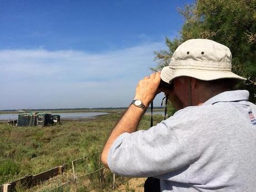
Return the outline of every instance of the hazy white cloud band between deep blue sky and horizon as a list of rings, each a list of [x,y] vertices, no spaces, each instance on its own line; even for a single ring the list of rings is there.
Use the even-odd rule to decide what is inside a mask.
[[[0,50],[0,109],[121,107],[155,66],[163,43],[88,53]]]

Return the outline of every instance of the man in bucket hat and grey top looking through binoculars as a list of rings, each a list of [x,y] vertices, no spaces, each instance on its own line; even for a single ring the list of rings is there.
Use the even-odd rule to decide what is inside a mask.
[[[135,98],[115,126],[102,162],[116,174],[154,176],[161,191],[256,191],[256,106],[245,78],[231,71],[228,47],[188,40],[161,73],[141,80]],[[161,90],[160,80],[173,85]],[[160,91],[180,109],[146,131],[142,115]],[[139,101],[137,101],[139,100]]]

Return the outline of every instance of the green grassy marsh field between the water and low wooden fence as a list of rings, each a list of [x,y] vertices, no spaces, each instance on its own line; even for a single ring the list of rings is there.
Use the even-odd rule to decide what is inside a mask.
[[[62,121],[61,125],[43,128],[12,127],[0,122],[0,185],[70,163],[83,155],[90,156],[86,170],[96,169],[101,149],[120,116],[120,111],[112,111],[96,119]],[[156,115],[154,123],[162,119]],[[145,115],[139,129],[149,126],[150,116]],[[127,186],[122,188],[121,191],[133,191],[127,190]]]

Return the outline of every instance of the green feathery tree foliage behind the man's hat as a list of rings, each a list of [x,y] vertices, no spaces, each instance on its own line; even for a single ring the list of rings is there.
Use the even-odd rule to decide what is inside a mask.
[[[185,18],[180,36],[165,38],[168,50],[155,52],[157,66],[161,70],[169,65],[175,49],[191,38],[208,38],[230,48],[232,71],[247,78],[250,100],[256,102],[256,0],[198,0],[186,4],[178,11]]]

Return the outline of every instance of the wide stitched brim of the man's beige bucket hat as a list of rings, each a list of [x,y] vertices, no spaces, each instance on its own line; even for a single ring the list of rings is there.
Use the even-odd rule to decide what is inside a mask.
[[[220,78],[235,78],[241,81],[245,81],[246,78],[240,77],[231,71],[207,71],[207,70],[193,70],[193,69],[172,69],[166,66],[161,71],[161,79],[167,83],[176,77],[188,76],[194,77],[203,81],[218,80]]]

